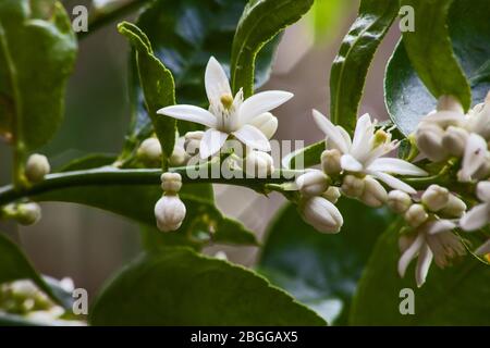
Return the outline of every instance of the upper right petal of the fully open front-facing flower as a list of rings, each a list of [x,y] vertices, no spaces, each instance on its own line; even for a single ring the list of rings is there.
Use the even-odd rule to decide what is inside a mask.
[[[282,90],[268,90],[246,99],[240,108],[240,122],[247,124],[255,116],[271,111],[293,98],[293,94]]]

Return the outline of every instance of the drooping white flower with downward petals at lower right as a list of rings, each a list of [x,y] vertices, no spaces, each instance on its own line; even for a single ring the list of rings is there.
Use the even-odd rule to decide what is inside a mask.
[[[420,287],[426,282],[432,259],[440,268],[449,264],[449,259],[464,256],[466,250],[463,243],[451,231],[456,225],[449,220],[428,221],[416,229],[414,236],[402,236],[400,248],[402,257],[399,261],[400,276],[405,276],[408,264],[417,258],[415,278]]]

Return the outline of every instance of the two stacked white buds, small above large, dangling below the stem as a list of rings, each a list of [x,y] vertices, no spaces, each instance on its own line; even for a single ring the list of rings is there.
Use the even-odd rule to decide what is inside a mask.
[[[182,177],[177,173],[161,175],[163,196],[155,204],[157,226],[162,232],[176,231],[185,219],[185,206],[179,198],[182,188]]]

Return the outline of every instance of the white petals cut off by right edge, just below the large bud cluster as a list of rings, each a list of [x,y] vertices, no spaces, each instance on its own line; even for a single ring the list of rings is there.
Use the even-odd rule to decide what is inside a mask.
[[[478,183],[476,194],[482,203],[474,207],[461,219],[460,226],[465,231],[479,229],[490,221],[490,182]]]

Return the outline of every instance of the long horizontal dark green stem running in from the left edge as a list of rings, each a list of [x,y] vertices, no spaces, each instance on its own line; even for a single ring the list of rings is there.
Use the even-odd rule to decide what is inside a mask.
[[[209,164],[207,163],[206,165],[208,166]],[[196,171],[194,171],[195,169],[197,167],[192,169],[192,173],[196,173]],[[191,167],[184,166],[173,167],[169,171],[181,174],[184,184],[226,184],[248,187],[262,192],[267,191],[267,184],[292,182],[294,181],[294,175],[301,173],[298,171],[278,170],[272,178],[192,178],[188,175],[189,170]],[[83,187],[89,185],[159,185],[160,175],[161,170],[118,170],[115,167],[100,167],[87,171],[49,174],[41,183],[30,187],[15,189],[12,185],[9,185],[0,188],[0,206],[4,206],[22,198],[30,198],[40,194],[69,187]]]

